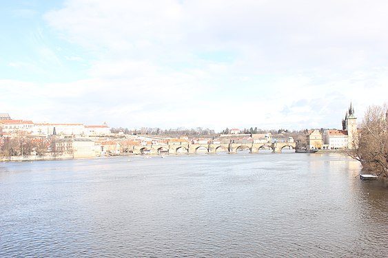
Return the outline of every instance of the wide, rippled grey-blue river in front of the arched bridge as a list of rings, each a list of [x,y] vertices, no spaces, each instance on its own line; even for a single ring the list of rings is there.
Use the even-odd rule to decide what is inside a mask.
[[[0,163],[0,257],[388,257],[388,189],[336,154]]]

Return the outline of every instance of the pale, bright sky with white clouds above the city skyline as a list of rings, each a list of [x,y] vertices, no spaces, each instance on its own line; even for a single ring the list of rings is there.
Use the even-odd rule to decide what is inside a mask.
[[[0,0],[0,113],[341,129],[388,96],[384,0]]]

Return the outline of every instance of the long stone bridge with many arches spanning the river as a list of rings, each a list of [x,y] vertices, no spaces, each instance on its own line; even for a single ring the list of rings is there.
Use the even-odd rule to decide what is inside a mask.
[[[258,153],[259,150],[271,149],[274,153],[280,153],[284,148],[295,149],[295,142],[274,142],[274,143],[221,143],[221,144],[150,144],[132,145],[128,151],[134,154],[179,154],[179,153],[212,153],[225,151],[227,153],[237,153],[238,151],[249,150],[249,153]]]

